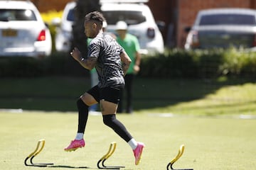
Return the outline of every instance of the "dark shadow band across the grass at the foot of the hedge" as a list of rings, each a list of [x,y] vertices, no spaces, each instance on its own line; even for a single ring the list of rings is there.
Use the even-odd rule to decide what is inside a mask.
[[[223,86],[246,82],[248,80],[245,79],[218,81],[137,77],[134,79],[134,111],[193,101],[213,94]],[[87,89],[90,89],[90,79],[83,77],[4,78],[0,84],[0,108],[77,111],[76,100]]]

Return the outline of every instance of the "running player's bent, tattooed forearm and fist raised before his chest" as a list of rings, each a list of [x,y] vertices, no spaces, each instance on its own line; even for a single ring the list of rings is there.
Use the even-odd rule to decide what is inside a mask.
[[[95,64],[97,62],[96,57],[88,57],[87,59],[83,58],[81,55],[81,52],[78,50],[77,47],[74,48],[72,52],[70,52],[70,55],[77,60],[82,67],[85,67],[85,69],[93,69],[95,67]]]

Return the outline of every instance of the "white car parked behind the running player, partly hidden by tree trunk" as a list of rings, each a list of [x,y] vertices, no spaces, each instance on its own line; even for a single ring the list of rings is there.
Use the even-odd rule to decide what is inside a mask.
[[[65,6],[60,28],[57,29],[55,47],[57,51],[68,52],[72,38],[75,2]],[[144,55],[164,52],[164,40],[154,21],[149,6],[143,3],[103,2],[101,10],[107,20],[107,31],[116,33],[116,23],[125,21],[128,32],[136,35]]]

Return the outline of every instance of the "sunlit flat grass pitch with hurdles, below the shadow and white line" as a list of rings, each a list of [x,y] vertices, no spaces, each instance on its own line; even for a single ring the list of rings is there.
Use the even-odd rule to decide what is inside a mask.
[[[40,139],[46,145],[34,162],[53,162],[55,169],[88,166],[97,169],[97,161],[107,152],[110,142],[117,142],[116,152],[107,165],[125,169],[166,169],[166,165],[185,145],[176,169],[255,169],[256,120],[238,117],[166,115],[140,113],[118,115],[139,141],[146,144],[139,166],[134,165],[130,147],[102,123],[101,115],[90,115],[86,128],[86,146],[64,152],[75,137],[77,114],[73,112],[0,112],[1,169],[40,169],[24,166]],[[66,167],[66,168],[64,168]],[[42,169],[54,169],[53,167]]]

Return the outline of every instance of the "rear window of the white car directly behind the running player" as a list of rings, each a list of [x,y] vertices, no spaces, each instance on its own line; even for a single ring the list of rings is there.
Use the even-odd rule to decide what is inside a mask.
[[[146,21],[142,11],[102,11],[102,13],[110,25],[115,25],[118,21],[125,21],[128,25]]]

